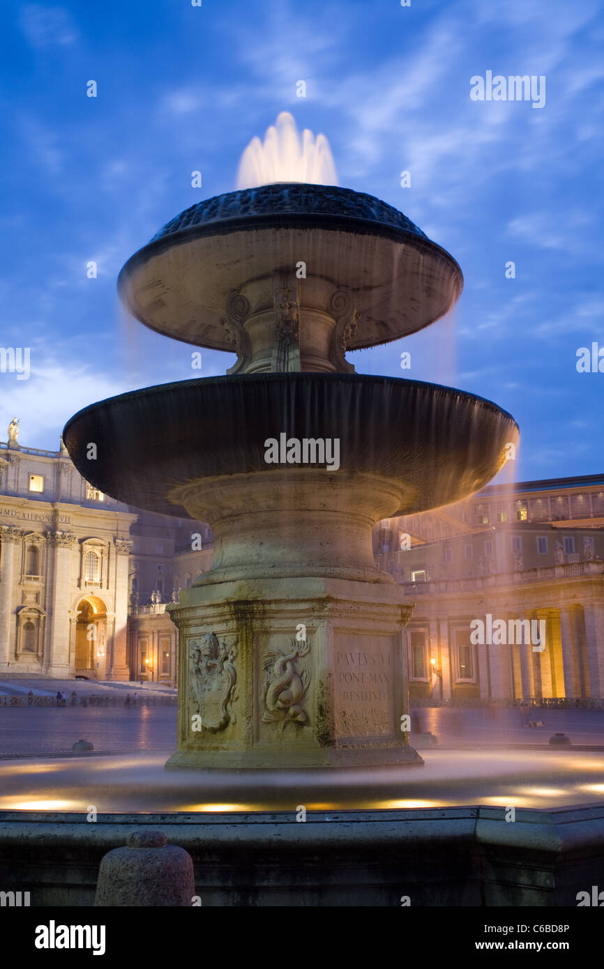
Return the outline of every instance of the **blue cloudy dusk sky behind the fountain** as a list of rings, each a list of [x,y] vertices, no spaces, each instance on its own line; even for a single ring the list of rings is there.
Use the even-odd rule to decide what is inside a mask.
[[[56,448],[80,407],[200,376],[192,348],[125,318],[117,272],[231,191],[248,141],[290,110],[327,136],[340,185],[396,205],[465,277],[451,318],[350,355],[357,371],[493,399],[521,425],[521,480],[603,470],[604,373],[576,370],[578,348],[604,347],[595,0],[12,3],[0,23],[1,343],[31,348],[29,380],[0,373],[0,438],[16,415],[24,446]],[[545,106],[472,101],[487,71],[545,76]],[[202,375],[232,361],[204,351]]]

